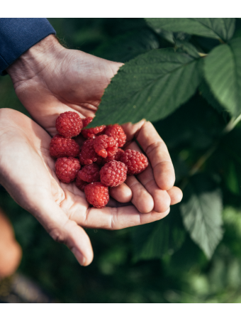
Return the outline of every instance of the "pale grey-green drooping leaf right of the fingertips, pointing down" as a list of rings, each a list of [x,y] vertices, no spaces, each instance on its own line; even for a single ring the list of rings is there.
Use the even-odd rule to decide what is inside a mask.
[[[207,175],[195,175],[184,190],[180,209],[191,239],[210,259],[223,236],[222,197],[217,185]]]

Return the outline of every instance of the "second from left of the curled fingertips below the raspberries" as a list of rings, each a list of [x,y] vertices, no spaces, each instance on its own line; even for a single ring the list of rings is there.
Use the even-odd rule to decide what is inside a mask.
[[[130,187],[133,193],[131,202],[141,213],[149,213],[154,208],[154,200],[152,195],[147,192],[145,187],[135,178],[135,176],[127,175],[126,185]]]

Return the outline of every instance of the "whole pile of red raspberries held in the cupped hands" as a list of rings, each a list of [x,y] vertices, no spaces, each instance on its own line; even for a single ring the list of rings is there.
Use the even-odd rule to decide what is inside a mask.
[[[91,121],[74,111],[60,114],[55,124],[59,134],[50,142],[50,155],[57,158],[57,178],[67,184],[75,180],[89,204],[102,208],[109,201],[109,188],[124,183],[127,175],[141,173],[148,160],[138,151],[121,149],[126,135],[120,125],[84,129]],[[82,147],[73,139],[78,135],[85,139]]]

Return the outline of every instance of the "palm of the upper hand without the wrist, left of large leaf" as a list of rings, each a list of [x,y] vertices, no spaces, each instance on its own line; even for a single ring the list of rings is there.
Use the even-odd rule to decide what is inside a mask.
[[[55,120],[62,112],[74,110],[82,118],[94,116],[104,89],[120,65],[79,50],[63,49],[36,76],[16,82],[14,87],[33,119],[53,136]]]

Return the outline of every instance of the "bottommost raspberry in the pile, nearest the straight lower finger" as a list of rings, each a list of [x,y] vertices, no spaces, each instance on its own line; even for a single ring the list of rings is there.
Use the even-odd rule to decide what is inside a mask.
[[[99,182],[88,184],[84,192],[87,202],[97,208],[105,207],[110,199],[108,187]]]

